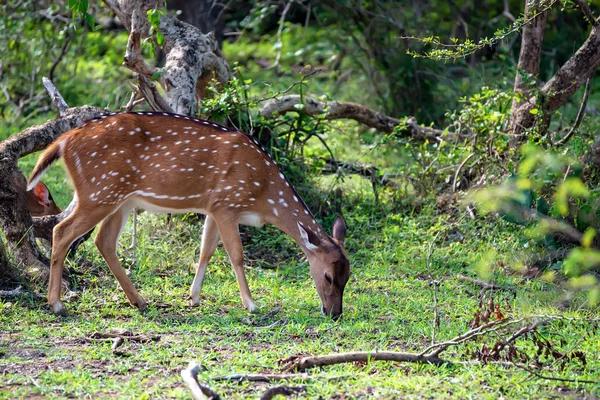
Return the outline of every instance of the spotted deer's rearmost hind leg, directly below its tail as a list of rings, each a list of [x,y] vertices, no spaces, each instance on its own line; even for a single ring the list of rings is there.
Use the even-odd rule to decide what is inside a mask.
[[[69,246],[84,233],[102,221],[114,208],[95,207],[91,211],[75,208],[73,213],[54,227],[52,232],[52,257],[50,262],[50,282],[48,283],[48,304],[55,314],[63,313],[60,300],[60,287],[65,256]]]

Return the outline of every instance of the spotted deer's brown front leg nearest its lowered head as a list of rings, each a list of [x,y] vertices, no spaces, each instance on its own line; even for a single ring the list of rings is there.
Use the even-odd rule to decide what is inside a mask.
[[[249,312],[255,312],[257,311],[257,307],[252,300],[250,288],[248,288],[248,282],[246,282],[246,275],[244,273],[244,250],[242,248],[238,224],[237,222],[231,223],[231,221],[225,223],[219,219],[216,221],[223,245],[225,246],[225,250],[227,250],[227,254],[229,254],[231,265],[235,271],[235,277],[240,287],[242,304]]]

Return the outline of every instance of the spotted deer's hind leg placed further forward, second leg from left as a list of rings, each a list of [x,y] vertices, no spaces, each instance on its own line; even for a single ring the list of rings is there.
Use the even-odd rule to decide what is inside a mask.
[[[102,257],[104,257],[106,264],[108,264],[110,272],[117,278],[117,281],[119,282],[119,285],[121,285],[129,302],[140,310],[143,310],[146,307],[146,300],[140,296],[133,286],[131,279],[129,279],[127,273],[125,273],[125,270],[119,261],[119,257],[117,256],[119,236],[121,236],[121,231],[127,222],[127,216],[131,209],[132,206],[126,203],[109,217],[104,219],[102,225],[100,225],[100,230],[98,231],[94,243],[96,244],[96,247],[98,247],[98,250],[100,250]]]

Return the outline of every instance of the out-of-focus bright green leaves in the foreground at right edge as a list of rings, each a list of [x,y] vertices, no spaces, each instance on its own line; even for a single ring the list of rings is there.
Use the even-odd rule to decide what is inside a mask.
[[[589,304],[595,306],[600,293],[594,272],[600,267],[595,242],[598,194],[584,183],[581,167],[571,157],[532,144],[524,146],[522,153],[518,174],[502,185],[473,192],[471,201],[484,213],[498,212],[509,222],[527,226],[528,233],[546,246],[556,246],[556,233],[577,237],[578,247],[567,254],[562,272],[569,278],[569,286],[585,289]]]

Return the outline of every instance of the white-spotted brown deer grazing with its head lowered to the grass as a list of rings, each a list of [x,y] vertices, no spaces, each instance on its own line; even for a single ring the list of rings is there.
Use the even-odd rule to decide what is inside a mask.
[[[206,267],[223,241],[242,303],[256,310],[246,282],[239,224],[269,222],[291,236],[310,264],[321,311],[337,317],[350,276],[344,249],[346,223],[337,217],[327,235],[279,166],[252,136],[218,124],[160,112],[110,114],[61,135],[40,156],[29,179],[35,187],[52,163],[63,158],[77,206],[53,232],[48,303],[63,312],[63,262],[69,245],[102,222],[95,244],[128,300],[146,301],[117,257],[127,215],[139,206],[151,212],[206,215],[200,259],[190,295],[200,301]]]

